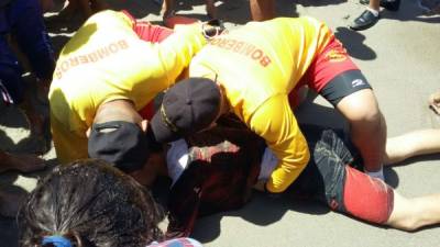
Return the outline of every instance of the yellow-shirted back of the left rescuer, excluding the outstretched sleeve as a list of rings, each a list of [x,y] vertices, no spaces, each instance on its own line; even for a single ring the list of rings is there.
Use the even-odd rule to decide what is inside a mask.
[[[51,101],[56,101],[52,112],[58,120],[66,110],[57,109],[63,105],[59,93],[77,121],[90,124],[101,103],[130,99],[140,110],[170,83],[166,75],[152,72],[162,70],[160,63],[153,63],[157,49],[139,38],[132,22],[123,12],[103,11],[91,16],[66,44],[50,92]]]

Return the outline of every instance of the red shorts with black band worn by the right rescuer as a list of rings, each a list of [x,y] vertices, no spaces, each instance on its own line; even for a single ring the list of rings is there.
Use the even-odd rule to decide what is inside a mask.
[[[305,85],[321,94],[334,106],[342,98],[372,88],[334,36],[323,52],[317,55],[296,89]],[[295,98],[295,93],[292,93],[289,98]],[[294,99],[290,100],[295,102]]]

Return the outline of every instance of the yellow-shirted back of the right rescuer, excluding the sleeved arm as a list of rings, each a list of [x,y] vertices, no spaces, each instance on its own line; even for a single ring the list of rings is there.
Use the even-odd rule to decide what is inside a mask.
[[[231,104],[253,99],[248,106],[253,111],[267,98],[290,92],[331,36],[311,18],[250,22],[213,38],[195,56],[189,75],[217,74]]]

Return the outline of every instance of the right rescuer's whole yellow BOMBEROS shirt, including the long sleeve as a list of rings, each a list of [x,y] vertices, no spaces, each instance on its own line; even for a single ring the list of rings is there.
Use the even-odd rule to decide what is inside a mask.
[[[251,22],[211,41],[190,64],[190,77],[217,75],[232,111],[279,159],[267,181],[271,192],[284,191],[309,160],[288,93],[331,36],[311,18]]]

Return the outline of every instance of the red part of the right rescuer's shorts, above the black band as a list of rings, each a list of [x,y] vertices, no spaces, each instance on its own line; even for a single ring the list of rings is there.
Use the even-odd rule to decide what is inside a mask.
[[[341,42],[333,36],[322,53],[318,54],[311,63],[306,75],[296,86],[296,89],[308,85],[316,92],[320,92],[336,76],[353,69],[359,70],[358,66],[346,54]]]

